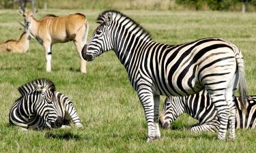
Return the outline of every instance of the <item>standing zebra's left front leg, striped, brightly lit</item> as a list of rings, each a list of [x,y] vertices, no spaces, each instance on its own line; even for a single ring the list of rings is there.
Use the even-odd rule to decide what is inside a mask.
[[[148,86],[139,86],[137,94],[145,112],[147,120],[147,141],[154,141],[156,138],[156,126],[154,124],[154,98]],[[158,129],[159,130],[159,129]]]

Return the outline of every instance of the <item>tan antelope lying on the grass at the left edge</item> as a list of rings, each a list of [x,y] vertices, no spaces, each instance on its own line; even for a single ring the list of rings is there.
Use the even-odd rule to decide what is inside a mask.
[[[4,43],[0,44],[0,51],[8,51],[8,52],[27,52],[29,50],[29,40],[31,37],[28,33],[23,32],[20,35],[20,39],[14,40],[9,39]]]

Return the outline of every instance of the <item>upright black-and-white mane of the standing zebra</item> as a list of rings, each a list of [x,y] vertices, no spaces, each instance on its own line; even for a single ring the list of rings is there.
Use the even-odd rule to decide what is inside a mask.
[[[116,10],[106,10],[102,13],[99,14],[98,18],[97,18],[97,23],[102,24],[103,22],[105,22],[105,16],[107,14],[112,14],[113,16],[113,22],[115,22],[115,18],[114,16],[122,16],[124,18],[126,18],[125,20],[130,20],[131,22],[133,22],[133,24],[136,24],[137,27],[139,27],[139,30],[142,31],[143,33],[145,33],[145,35],[147,35],[150,39],[152,39],[151,35],[149,32],[147,32],[138,22],[134,21],[132,18],[126,16],[125,14],[123,14],[122,12],[116,11]]]

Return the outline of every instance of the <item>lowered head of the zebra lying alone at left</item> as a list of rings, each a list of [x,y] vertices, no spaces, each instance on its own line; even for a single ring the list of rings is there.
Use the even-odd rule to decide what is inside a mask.
[[[33,82],[33,86],[35,88],[33,94],[38,97],[38,101],[34,104],[34,111],[44,119],[49,128],[60,127],[63,124],[63,118],[60,115],[59,102],[55,97],[55,85],[53,82],[43,85]]]

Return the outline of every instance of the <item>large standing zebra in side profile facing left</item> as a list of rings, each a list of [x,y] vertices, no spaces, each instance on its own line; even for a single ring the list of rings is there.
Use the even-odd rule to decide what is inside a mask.
[[[170,46],[152,41],[137,22],[117,11],[98,16],[100,24],[83,47],[86,61],[114,50],[124,65],[147,120],[147,141],[160,138],[158,109],[160,95],[193,95],[206,88],[212,97],[221,126],[219,139],[235,139],[236,105],[233,89],[240,79],[241,105],[246,103],[244,61],[240,50],[218,38],[205,38]],[[230,113],[229,113],[230,112]],[[230,114],[230,115],[229,115]]]

